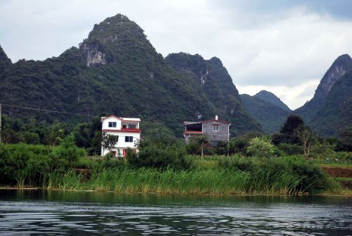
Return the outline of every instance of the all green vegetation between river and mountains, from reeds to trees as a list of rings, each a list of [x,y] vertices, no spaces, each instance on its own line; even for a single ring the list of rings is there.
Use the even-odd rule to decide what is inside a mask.
[[[96,129],[92,124],[80,128]],[[271,137],[242,135],[218,147],[197,140],[186,145],[165,132],[168,135],[163,139],[146,137],[137,144],[139,154],[127,151],[126,158],[92,156],[99,152],[99,145],[78,145],[77,139],[82,141],[84,135],[75,128],[76,132],[66,135],[58,132],[58,137],[53,133],[50,140],[56,142],[46,145],[0,144],[0,185],[168,194],[299,195],[350,189],[349,174],[329,177],[326,173],[329,166],[351,169],[351,147],[340,139],[310,134],[303,147],[296,129],[310,130],[302,125],[294,117]],[[43,140],[49,137],[45,133],[51,132],[44,132]]]

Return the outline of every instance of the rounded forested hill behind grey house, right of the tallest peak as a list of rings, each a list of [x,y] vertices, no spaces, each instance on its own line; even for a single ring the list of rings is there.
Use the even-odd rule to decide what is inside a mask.
[[[230,121],[232,135],[260,132],[260,125],[246,113],[241,104],[239,92],[219,58],[213,57],[210,60],[204,60],[198,54],[178,53],[169,54],[165,61],[184,77],[187,77],[197,93],[204,94],[207,101],[213,104],[213,113],[199,112],[201,119],[214,118],[215,114],[222,120]]]

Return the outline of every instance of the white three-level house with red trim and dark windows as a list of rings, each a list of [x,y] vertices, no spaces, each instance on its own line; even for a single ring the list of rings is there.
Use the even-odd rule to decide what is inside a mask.
[[[101,118],[101,131],[108,135],[118,135],[118,144],[112,151],[113,156],[125,156],[127,148],[138,151],[135,144],[141,138],[140,122],[139,118],[124,118],[115,115]],[[101,147],[101,156],[108,154],[108,152]]]

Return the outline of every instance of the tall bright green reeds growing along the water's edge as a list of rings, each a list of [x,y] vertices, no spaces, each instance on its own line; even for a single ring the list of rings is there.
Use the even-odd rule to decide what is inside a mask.
[[[288,173],[250,173],[232,169],[173,170],[167,168],[103,168],[92,170],[89,180],[69,171],[48,176],[49,189],[114,192],[155,192],[161,194],[296,194],[301,178]]]

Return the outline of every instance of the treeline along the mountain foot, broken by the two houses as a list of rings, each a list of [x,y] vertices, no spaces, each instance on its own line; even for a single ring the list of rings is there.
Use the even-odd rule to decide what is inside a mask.
[[[177,138],[172,131],[156,121],[144,121],[141,123],[142,136],[150,142],[178,142],[184,143],[182,138]],[[2,116],[2,141],[5,144],[44,144],[57,146],[69,134],[75,137],[75,145],[87,151],[88,156],[101,155],[101,121],[95,118],[86,123],[72,125],[54,121],[37,121],[34,118],[20,119]],[[206,137],[197,137],[184,146],[187,154],[199,154],[203,150],[204,155],[233,155],[241,154],[253,156],[253,151],[248,147],[251,142],[270,147],[272,156],[285,156],[304,154],[308,157],[319,157],[320,159],[340,159],[346,156],[343,152],[352,151],[352,133],[341,132],[339,138],[323,138],[315,135],[310,128],[305,125],[299,116],[291,115],[277,134],[263,136],[260,133],[249,133],[239,137],[233,137],[230,142],[220,142],[218,147],[210,147]],[[261,153],[265,151],[261,150]],[[346,159],[346,158],[345,158]]]

